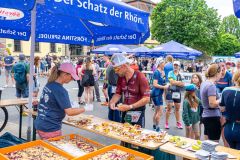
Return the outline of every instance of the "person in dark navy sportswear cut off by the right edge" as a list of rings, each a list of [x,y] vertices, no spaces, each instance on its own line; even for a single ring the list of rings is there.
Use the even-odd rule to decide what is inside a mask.
[[[222,92],[220,106],[225,109],[224,137],[228,145],[240,150],[240,72],[234,73],[233,82],[235,86],[226,87]]]

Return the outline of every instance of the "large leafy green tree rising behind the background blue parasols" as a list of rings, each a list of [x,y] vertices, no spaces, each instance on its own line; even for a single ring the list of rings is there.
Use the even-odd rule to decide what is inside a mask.
[[[218,48],[220,17],[205,0],[162,0],[151,15],[152,36],[175,40],[205,53]]]

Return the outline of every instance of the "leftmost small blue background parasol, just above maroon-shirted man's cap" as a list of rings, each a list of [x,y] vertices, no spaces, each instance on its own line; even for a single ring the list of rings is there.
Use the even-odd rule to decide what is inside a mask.
[[[130,53],[132,50],[124,45],[108,44],[106,46],[92,50],[92,53],[113,55],[114,53]]]

